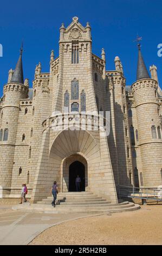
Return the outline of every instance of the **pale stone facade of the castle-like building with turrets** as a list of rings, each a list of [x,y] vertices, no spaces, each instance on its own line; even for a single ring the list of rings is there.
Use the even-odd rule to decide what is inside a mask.
[[[9,71],[0,102],[3,197],[19,197],[21,184],[27,183],[36,202],[49,196],[54,180],[67,192],[75,161],[85,167],[85,190],[112,202],[118,200],[118,185],[161,185],[157,68],[150,67],[151,78],[126,86],[119,57],[115,70],[106,71],[105,65],[103,49],[101,58],[92,53],[89,23],[83,27],[74,17],[60,28],[59,57],[51,51],[49,73],[41,72],[41,63],[36,66],[32,89],[28,80],[11,82],[15,71]],[[110,113],[109,135],[99,127],[99,111],[105,122],[105,112]]]

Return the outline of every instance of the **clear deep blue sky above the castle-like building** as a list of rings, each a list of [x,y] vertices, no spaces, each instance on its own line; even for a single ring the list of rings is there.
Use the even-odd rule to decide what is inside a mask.
[[[142,36],[142,55],[147,69],[157,65],[162,85],[162,57],[157,55],[157,45],[162,43],[161,0],[89,0],[89,1],[1,1],[0,44],[0,95],[7,83],[8,70],[14,69],[21,41],[24,41],[24,78],[29,78],[30,87],[35,65],[42,63],[42,71],[49,71],[50,51],[55,57],[59,52],[59,28],[67,27],[72,17],[92,27],[93,53],[100,56],[106,52],[106,69],[114,69],[114,58],[119,56],[124,66],[126,84],[135,81],[138,50],[133,40],[137,33]]]

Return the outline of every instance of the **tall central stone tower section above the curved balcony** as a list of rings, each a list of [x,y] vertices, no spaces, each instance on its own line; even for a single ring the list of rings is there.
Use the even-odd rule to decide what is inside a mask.
[[[53,72],[52,112],[97,111],[92,78],[91,28],[83,27],[77,17],[60,28],[59,65],[51,62]],[[88,99],[88,101],[87,101]]]

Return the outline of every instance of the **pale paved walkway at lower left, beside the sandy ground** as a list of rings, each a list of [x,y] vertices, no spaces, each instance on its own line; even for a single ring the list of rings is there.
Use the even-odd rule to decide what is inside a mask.
[[[2,208],[3,209],[3,206]],[[6,209],[4,207],[4,209]],[[0,211],[0,245],[28,245],[47,228],[88,214],[40,214],[36,212]]]

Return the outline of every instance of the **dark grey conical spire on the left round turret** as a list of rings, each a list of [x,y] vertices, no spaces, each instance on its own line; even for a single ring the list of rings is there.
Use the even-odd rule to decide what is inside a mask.
[[[16,64],[16,68],[14,70],[14,74],[12,75],[11,82],[15,83],[24,83],[23,77],[23,65],[22,65],[22,52],[23,52],[23,45],[20,49],[20,57],[18,58],[18,62]]]

